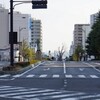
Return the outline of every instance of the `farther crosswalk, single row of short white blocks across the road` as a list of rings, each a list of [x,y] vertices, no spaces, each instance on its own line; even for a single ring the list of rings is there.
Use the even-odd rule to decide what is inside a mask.
[[[100,75],[74,75],[74,74],[27,74],[27,75],[22,75],[22,74],[16,74],[16,75],[10,75],[10,74],[5,74],[5,75],[0,75],[0,79],[2,78],[100,78]]]

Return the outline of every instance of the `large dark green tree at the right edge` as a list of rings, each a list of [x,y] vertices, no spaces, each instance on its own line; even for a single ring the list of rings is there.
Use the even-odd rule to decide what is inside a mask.
[[[94,55],[96,59],[100,59],[100,12],[86,42],[88,55]]]

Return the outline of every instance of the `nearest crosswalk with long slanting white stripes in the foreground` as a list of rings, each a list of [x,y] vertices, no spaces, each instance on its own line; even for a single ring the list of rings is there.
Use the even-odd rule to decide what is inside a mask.
[[[0,86],[0,98],[10,100],[100,100],[99,93]]]

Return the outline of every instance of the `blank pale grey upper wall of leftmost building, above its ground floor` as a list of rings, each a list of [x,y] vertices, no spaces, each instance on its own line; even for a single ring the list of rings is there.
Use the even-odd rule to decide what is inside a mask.
[[[0,49],[9,47],[9,15],[8,9],[0,6]]]

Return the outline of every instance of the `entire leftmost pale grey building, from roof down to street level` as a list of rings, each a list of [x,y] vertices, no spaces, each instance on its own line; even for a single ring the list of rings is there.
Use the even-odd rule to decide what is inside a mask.
[[[0,5],[0,60],[9,60],[9,10]]]

